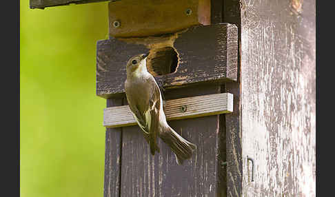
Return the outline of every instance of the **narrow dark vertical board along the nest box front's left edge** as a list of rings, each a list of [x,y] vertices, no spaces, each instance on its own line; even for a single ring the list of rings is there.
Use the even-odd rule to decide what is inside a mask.
[[[122,100],[122,98],[108,99],[107,107],[122,105]],[[103,196],[119,196],[121,180],[122,128],[107,128],[105,141],[105,177]]]

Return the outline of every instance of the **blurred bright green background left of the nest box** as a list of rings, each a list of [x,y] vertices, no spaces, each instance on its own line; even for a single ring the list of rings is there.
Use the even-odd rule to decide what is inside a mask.
[[[31,10],[20,1],[21,196],[103,196],[95,66],[107,34],[106,2]]]

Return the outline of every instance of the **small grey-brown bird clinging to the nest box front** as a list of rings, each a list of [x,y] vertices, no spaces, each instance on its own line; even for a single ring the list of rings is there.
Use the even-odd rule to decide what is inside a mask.
[[[150,145],[151,154],[159,152],[156,143],[159,136],[169,145],[176,155],[176,162],[181,165],[183,160],[191,158],[196,145],[186,141],[167,124],[161,91],[147,70],[147,56],[148,54],[139,54],[129,59],[126,65],[125,95],[130,110]]]

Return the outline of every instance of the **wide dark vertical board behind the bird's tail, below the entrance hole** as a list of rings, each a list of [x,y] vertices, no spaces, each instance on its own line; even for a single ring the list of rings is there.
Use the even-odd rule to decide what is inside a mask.
[[[203,85],[167,90],[167,99],[220,92]],[[219,115],[168,122],[197,149],[183,165],[160,139],[160,153],[150,154],[137,125],[123,127],[121,196],[222,196],[219,183]]]

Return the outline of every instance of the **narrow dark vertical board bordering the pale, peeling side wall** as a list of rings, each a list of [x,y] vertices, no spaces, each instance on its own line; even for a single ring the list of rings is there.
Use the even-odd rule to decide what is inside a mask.
[[[221,20],[225,23],[232,23],[238,27],[238,67],[237,80],[234,83],[225,83],[221,87],[223,92],[232,92],[234,94],[234,112],[225,114],[225,142],[227,160],[226,179],[227,196],[243,196],[243,146],[242,146],[242,112],[241,112],[241,4],[240,1],[223,1],[223,17]],[[256,195],[257,196],[257,195]]]

